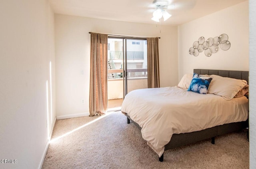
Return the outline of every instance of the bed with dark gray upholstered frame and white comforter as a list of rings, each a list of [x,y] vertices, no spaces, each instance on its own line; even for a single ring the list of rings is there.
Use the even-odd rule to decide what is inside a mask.
[[[232,97],[214,93],[219,77],[240,80],[248,87],[248,71],[195,69],[195,74],[215,80],[207,90],[212,93],[199,94],[175,86],[138,89],[124,98],[121,111],[127,116],[127,123],[132,121],[141,129],[142,137],[161,162],[165,150],[209,138],[214,144],[216,136],[248,127],[248,93],[239,97],[237,91]],[[244,88],[245,85],[239,92]]]

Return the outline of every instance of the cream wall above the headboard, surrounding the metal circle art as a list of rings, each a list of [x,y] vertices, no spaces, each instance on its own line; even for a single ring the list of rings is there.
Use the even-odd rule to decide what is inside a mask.
[[[189,54],[189,48],[198,38],[206,40],[227,34],[229,50],[219,50],[206,57]],[[179,80],[193,69],[249,70],[249,12],[248,1],[178,26]]]

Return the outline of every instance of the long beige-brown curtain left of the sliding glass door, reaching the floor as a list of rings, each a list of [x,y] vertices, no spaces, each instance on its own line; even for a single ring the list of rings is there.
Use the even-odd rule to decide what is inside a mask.
[[[91,33],[90,116],[103,115],[108,108],[108,35]]]

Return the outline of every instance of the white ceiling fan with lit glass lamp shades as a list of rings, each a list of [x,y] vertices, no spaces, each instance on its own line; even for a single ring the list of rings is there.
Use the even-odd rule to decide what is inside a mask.
[[[160,22],[163,17],[164,21],[168,20],[172,15],[166,10],[182,9],[183,7],[193,8],[196,4],[196,0],[154,0],[153,5],[156,8],[151,18],[155,22]]]

